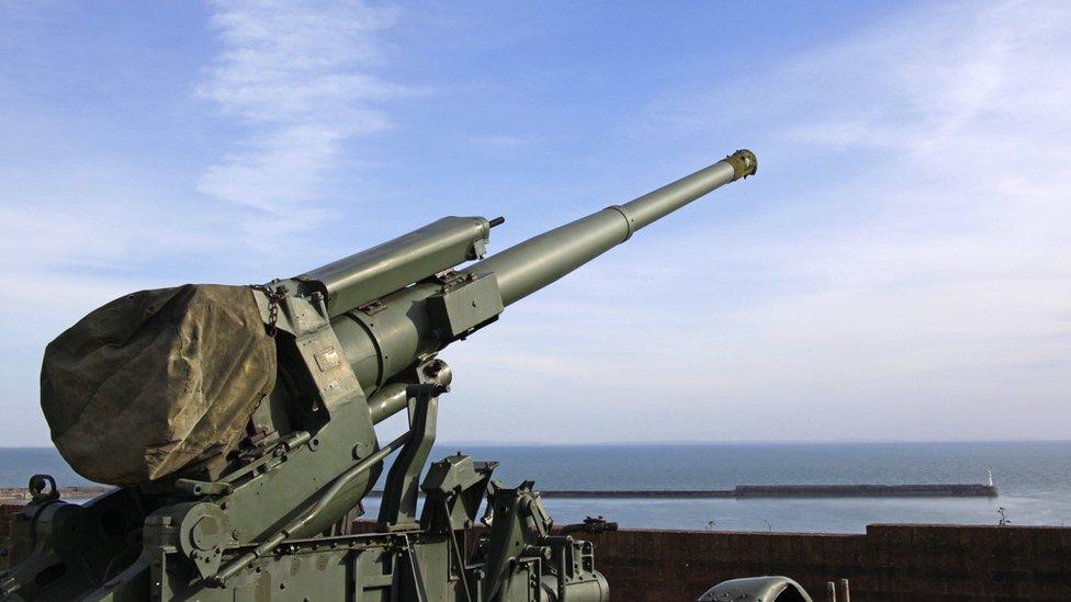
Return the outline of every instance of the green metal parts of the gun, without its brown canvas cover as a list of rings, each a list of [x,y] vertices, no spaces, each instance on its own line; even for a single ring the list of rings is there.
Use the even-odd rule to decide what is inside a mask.
[[[421,480],[452,379],[436,354],[756,167],[737,151],[460,270],[500,218],[443,218],[257,287],[279,375],[234,451],[83,506],[38,492],[16,521],[0,599],[607,600],[594,547],[552,531],[531,482],[506,488],[494,463],[463,455]],[[403,410],[409,432],[381,444],[374,425]],[[377,533],[354,534],[394,452]],[[491,527],[476,536],[484,503]]]

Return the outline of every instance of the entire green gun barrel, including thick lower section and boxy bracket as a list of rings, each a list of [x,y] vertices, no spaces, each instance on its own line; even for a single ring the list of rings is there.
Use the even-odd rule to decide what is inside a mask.
[[[405,407],[397,391],[377,389],[450,342],[492,321],[509,305],[623,242],[633,232],[708,192],[755,173],[749,150],[737,150],[620,206],[530,238],[461,270],[463,286],[421,281],[380,299],[374,311],[331,319],[346,357],[369,395],[375,417]],[[497,223],[497,220],[494,220]],[[495,225],[491,222],[488,226]]]

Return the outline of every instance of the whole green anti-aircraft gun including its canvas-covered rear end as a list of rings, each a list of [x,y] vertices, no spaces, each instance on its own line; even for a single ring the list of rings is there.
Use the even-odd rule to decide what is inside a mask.
[[[425,473],[451,382],[437,353],[756,167],[737,151],[487,259],[501,218],[446,217],[292,279],[93,311],[48,345],[42,405],[71,466],[119,487],[67,503],[33,477],[0,599],[607,600],[591,544],[551,531],[531,482],[460,454]],[[408,431],[379,441],[402,411]]]

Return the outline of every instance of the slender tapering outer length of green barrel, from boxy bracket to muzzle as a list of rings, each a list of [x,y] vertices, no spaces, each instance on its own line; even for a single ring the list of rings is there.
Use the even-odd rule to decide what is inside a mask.
[[[757,167],[758,161],[752,151],[737,150],[624,205],[612,205],[530,238],[463,272],[495,274],[503,304],[509,305],[624,242],[640,228],[723,184],[752,175]]]

